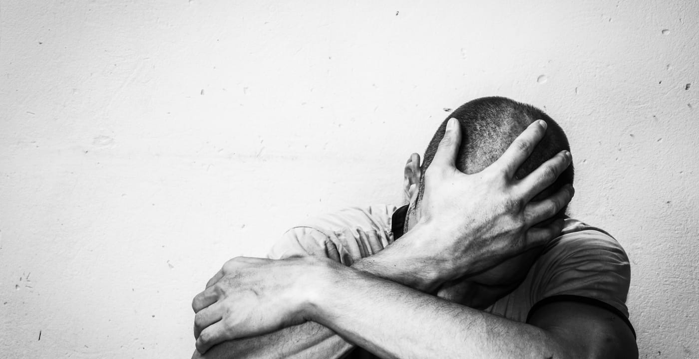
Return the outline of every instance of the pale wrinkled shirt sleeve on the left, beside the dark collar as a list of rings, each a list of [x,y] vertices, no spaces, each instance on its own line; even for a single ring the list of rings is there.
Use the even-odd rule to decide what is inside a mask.
[[[350,207],[307,219],[287,230],[273,244],[268,258],[324,256],[352,265],[394,241],[391,215],[394,205]]]

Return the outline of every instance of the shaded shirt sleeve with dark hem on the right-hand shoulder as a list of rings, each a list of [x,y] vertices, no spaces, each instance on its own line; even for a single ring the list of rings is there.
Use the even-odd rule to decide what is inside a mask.
[[[631,272],[626,252],[602,230],[581,222],[574,226],[547,245],[540,257],[531,302],[553,297],[588,298],[628,318],[626,295]]]

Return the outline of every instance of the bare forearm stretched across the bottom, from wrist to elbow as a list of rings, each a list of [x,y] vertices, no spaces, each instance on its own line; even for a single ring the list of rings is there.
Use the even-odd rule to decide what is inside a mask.
[[[329,266],[310,318],[382,358],[566,358],[561,339],[358,270]]]

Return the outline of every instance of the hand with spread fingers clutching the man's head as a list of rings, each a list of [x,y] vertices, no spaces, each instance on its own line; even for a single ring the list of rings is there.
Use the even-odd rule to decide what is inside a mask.
[[[425,173],[417,224],[430,228],[435,240],[414,243],[416,253],[438,270],[438,281],[482,272],[559,235],[562,219],[534,226],[554,217],[570,202],[572,186],[565,185],[537,202],[532,198],[570,165],[570,152],[556,154],[521,180],[514,177],[545,131],[545,122],[533,122],[500,159],[479,173],[466,175],[455,165],[461,127],[456,119],[449,120]]]

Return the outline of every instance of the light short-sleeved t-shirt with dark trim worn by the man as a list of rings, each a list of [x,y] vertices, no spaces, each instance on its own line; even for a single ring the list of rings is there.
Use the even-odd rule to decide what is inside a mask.
[[[392,228],[398,224],[402,231],[405,218],[404,209],[396,210],[394,205],[352,207],[308,219],[284,233],[268,258],[312,255],[352,265],[394,241]],[[629,284],[628,257],[619,242],[599,228],[565,219],[561,235],[546,245],[526,279],[484,311],[526,323],[538,305],[581,301],[616,313],[633,331],[626,308]]]

